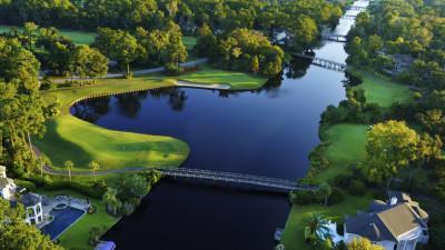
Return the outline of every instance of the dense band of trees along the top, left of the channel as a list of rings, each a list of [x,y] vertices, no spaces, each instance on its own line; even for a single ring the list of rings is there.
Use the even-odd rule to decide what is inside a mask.
[[[324,0],[1,0],[0,23],[34,22],[93,31],[98,27],[132,31],[142,27],[151,31],[174,21],[187,34],[204,23],[214,32],[246,28],[269,36],[276,29],[288,29],[296,36],[295,46],[305,49],[322,28],[338,22],[344,7],[342,1]]]

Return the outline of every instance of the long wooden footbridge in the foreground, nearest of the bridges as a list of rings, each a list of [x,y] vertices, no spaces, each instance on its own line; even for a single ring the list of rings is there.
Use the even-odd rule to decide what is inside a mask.
[[[187,169],[187,168],[166,168],[166,167],[155,167],[154,169],[160,171],[162,176],[174,177],[175,179],[178,177],[189,179],[199,180],[202,183],[202,180],[211,180],[214,184],[217,181],[222,181],[228,186],[229,183],[235,183],[240,187],[241,184],[249,184],[253,188],[255,187],[264,187],[264,188],[274,188],[279,191],[290,192],[294,189],[299,190],[317,190],[316,187],[309,187],[305,183],[297,183],[296,181],[267,178],[267,177],[258,177],[251,174],[243,174],[243,173],[234,173],[234,172],[221,172],[214,170],[201,170],[201,169]]]

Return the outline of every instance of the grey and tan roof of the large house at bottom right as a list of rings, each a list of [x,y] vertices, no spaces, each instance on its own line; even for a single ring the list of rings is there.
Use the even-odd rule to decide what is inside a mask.
[[[397,202],[390,206],[379,200],[374,201],[368,212],[358,212],[357,217],[346,216],[346,232],[368,238],[370,241],[398,241],[398,237],[416,228],[427,228],[428,214],[411,200],[409,194],[389,192]],[[393,194],[393,196],[392,196]]]

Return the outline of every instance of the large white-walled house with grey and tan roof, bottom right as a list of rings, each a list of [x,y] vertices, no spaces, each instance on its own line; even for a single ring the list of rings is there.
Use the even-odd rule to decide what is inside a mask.
[[[386,250],[415,250],[428,242],[428,214],[408,193],[388,192],[386,202],[375,200],[367,212],[345,217],[345,242],[367,238]]]

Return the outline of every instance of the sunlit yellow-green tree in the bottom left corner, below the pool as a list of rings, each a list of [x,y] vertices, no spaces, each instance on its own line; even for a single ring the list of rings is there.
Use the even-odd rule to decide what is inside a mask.
[[[17,203],[11,209],[9,201],[0,198],[0,248],[1,249],[44,249],[62,250],[53,244],[49,236],[43,236],[34,226],[23,221],[26,211],[23,204]]]

